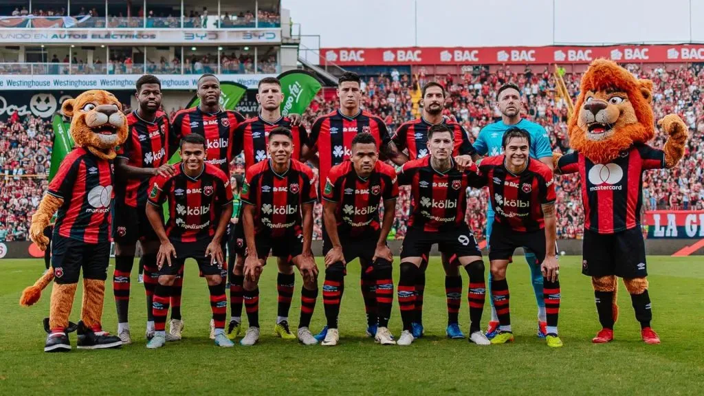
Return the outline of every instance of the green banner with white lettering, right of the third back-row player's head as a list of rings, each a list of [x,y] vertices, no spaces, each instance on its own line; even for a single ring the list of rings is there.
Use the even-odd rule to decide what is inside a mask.
[[[312,73],[303,70],[289,70],[279,74],[281,88],[284,91],[284,102],[281,104],[281,115],[303,114],[322,85]]]

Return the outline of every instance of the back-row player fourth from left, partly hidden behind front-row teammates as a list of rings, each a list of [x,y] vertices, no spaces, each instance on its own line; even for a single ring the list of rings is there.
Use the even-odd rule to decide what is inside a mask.
[[[360,100],[362,99],[360,82],[361,80],[356,73],[343,73],[337,85],[337,96],[340,100],[339,109],[315,120],[313,128],[310,129],[310,136],[305,144],[310,149],[310,155],[318,153],[320,180],[327,180],[332,166],[350,158],[352,139],[360,132],[370,133],[377,142],[377,149],[394,163],[401,165],[408,161],[408,156],[398,151],[396,144],[391,142],[391,136],[384,121],[360,108]],[[319,184],[322,192],[325,183]],[[377,333],[378,321],[376,280],[371,271],[372,263],[364,261],[362,267],[360,285],[367,311],[367,335],[374,337]],[[326,332],[327,328],[323,328],[320,334],[316,335],[316,338],[322,340],[325,338]]]

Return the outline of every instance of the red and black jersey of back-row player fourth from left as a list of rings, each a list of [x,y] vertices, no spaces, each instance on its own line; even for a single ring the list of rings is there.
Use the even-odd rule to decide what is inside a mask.
[[[360,110],[357,116],[350,118],[336,110],[315,120],[306,144],[318,151],[320,180],[327,180],[330,168],[350,158],[352,139],[359,132],[372,134],[377,140],[379,151],[391,142],[391,136],[384,121],[368,111]],[[320,182],[321,191],[324,184]]]

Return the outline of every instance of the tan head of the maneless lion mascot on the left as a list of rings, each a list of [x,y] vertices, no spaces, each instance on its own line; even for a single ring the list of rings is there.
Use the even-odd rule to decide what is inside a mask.
[[[114,159],[115,147],[127,140],[127,118],[110,92],[83,92],[63,101],[61,111],[71,118],[73,141],[101,159]]]

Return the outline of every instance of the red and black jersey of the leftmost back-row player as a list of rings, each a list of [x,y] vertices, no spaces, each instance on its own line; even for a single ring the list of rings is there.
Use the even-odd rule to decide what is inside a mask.
[[[137,168],[158,168],[168,159],[169,119],[163,111],[156,112],[154,122],[143,120],[132,111],[127,116],[130,134],[118,149],[118,157],[127,159],[128,166]],[[146,205],[149,192],[149,178],[132,178],[115,180],[115,199],[125,202],[127,206]]]

